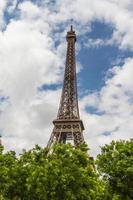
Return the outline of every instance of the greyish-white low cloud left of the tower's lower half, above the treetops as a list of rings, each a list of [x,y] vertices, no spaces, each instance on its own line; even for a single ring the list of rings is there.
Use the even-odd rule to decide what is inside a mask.
[[[8,106],[1,115],[3,142],[7,150],[21,152],[35,144],[46,145],[52,132],[60,91],[47,91],[32,98],[30,103]]]

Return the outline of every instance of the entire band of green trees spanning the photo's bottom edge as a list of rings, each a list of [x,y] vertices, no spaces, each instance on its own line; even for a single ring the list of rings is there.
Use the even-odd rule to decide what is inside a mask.
[[[36,145],[19,156],[0,145],[0,200],[132,199],[133,140],[105,145],[96,163],[85,144]]]

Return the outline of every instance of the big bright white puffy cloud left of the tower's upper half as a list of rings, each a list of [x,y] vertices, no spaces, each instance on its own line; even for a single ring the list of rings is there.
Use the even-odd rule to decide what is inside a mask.
[[[33,24],[12,21],[1,33],[0,41],[1,89],[11,98],[30,97],[42,83],[59,79],[60,60],[51,50],[52,40]]]

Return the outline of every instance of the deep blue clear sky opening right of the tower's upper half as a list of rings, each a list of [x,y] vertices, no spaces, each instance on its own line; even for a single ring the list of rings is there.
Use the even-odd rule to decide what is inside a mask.
[[[87,32],[85,36],[78,38],[84,41],[85,38],[89,39],[110,39],[113,33],[111,25],[92,22],[91,31]],[[121,50],[117,44],[102,45],[96,47],[83,47],[77,55],[77,59],[84,66],[83,70],[79,73],[80,87],[88,89],[90,92],[93,90],[100,90],[105,84],[105,76],[107,71],[115,64],[121,65],[123,60],[127,57],[132,57],[133,52],[129,49]],[[120,61],[119,61],[120,60]],[[117,63],[119,61],[119,63]]]

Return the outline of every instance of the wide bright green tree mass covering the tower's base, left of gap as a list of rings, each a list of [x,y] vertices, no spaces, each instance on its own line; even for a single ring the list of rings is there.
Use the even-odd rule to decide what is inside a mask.
[[[1,151],[0,156],[0,195],[5,200],[104,199],[105,186],[85,145],[55,145],[49,154],[36,146],[18,158],[14,152]]]

